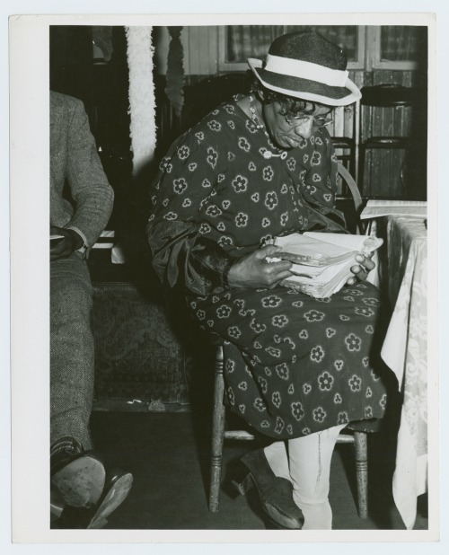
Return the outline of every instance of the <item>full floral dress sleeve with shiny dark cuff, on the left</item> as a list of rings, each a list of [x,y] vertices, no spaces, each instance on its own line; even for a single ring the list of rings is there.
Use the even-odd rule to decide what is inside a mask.
[[[235,261],[201,233],[201,207],[214,194],[219,158],[219,149],[206,144],[202,131],[188,131],[175,141],[160,163],[146,227],[163,284],[197,295],[223,290]]]

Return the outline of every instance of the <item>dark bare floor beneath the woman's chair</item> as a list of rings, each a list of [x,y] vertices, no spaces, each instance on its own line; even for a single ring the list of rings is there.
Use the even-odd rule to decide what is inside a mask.
[[[92,415],[95,447],[107,463],[132,471],[134,485],[110,515],[107,529],[120,530],[265,530],[254,491],[235,497],[229,488],[232,463],[253,443],[227,442],[219,512],[207,508],[209,422],[183,412],[110,412]],[[373,443],[374,441],[374,443]],[[369,517],[357,515],[352,445],[338,445],[332,458],[330,505],[334,530],[404,530],[392,501],[392,450],[370,437]],[[424,506],[423,499],[420,504]],[[422,503],[421,503],[422,502]],[[423,515],[424,514],[424,515]],[[420,507],[416,530],[427,530]]]

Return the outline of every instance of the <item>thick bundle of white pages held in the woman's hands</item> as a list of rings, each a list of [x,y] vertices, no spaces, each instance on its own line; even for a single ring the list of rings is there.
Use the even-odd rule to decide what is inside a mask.
[[[274,244],[282,251],[269,261],[294,262],[291,271],[295,276],[284,279],[281,285],[321,299],[337,293],[353,276],[351,267],[357,264],[357,254],[374,252],[383,240],[370,235],[306,232],[277,237]]]

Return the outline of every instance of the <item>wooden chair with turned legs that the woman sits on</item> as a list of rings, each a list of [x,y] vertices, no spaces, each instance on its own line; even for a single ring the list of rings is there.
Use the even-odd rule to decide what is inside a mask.
[[[356,213],[362,207],[362,198],[357,189],[356,181],[348,170],[339,163],[339,175],[344,179],[351,191]],[[242,439],[251,441],[256,439],[246,430],[228,430],[225,428],[225,379],[224,368],[224,342],[218,336],[211,335],[211,341],[216,348],[215,358],[215,385],[212,414],[212,445],[210,457],[210,489],[209,511],[218,511],[220,487],[222,480],[223,449],[225,439]],[[368,451],[367,434],[376,431],[376,420],[362,420],[350,423],[339,435],[338,444],[351,443],[355,447],[356,473],[357,473],[357,506],[360,518],[368,517]]]

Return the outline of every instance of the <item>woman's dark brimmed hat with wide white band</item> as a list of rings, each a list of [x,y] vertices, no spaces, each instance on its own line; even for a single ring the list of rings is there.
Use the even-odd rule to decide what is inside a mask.
[[[305,101],[348,106],[361,93],[348,78],[348,60],[338,45],[314,31],[291,32],[271,43],[265,64],[248,58],[266,88]]]

